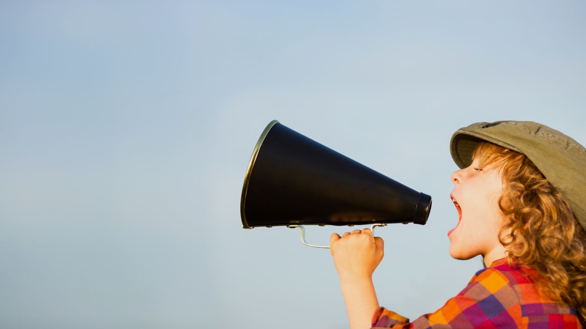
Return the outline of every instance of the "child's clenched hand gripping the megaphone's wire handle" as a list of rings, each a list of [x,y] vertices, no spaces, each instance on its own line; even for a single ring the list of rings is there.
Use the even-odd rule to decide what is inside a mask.
[[[372,277],[384,256],[384,241],[369,228],[330,235],[330,252],[340,279]]]

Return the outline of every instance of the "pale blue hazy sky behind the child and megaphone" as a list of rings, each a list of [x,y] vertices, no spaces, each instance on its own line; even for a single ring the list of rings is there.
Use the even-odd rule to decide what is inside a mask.
[[[586,145],[584,16],[581,1],[1,1],[1,327],[347,328],[328,249],[242,227],[273,119],[433,198],[426,225],[375,230],[373,280],[381,306],[435,311],[482,269],[448,253],[452,133],[527,120]]]

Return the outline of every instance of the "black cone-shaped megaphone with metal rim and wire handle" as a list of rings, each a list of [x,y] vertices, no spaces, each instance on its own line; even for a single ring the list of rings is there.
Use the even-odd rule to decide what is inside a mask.
[[[273,120],[250,157],[240,199],[244,228],[424,225],[431,197]]]

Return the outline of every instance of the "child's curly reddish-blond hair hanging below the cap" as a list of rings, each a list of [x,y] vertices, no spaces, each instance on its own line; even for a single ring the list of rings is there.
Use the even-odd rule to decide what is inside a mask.
[[[502,172],[499,241],[509,265],[536,270],[539,292],[574,306],[586,323],[586,234],[570,205],[522,153],[481,142],[476,156],[481,167],[495,165]]]

